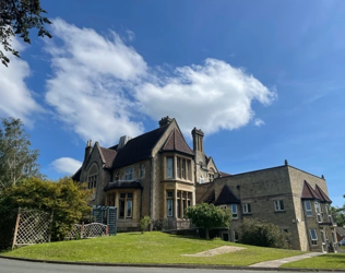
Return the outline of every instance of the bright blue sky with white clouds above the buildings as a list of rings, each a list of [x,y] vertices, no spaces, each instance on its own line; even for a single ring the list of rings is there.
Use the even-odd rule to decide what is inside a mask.
[[[41,1],[51,40],[0,67],[0,116],[24,120],[57,179],[103,146],[175,117],[218,169],[284,164],[345,193],[345,2]]]

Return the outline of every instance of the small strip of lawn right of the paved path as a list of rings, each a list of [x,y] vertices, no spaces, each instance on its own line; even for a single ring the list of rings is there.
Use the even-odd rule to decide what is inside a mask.
[[[282,268],[345,270],[345,253],[328,253],[298,262],[286,263]]]

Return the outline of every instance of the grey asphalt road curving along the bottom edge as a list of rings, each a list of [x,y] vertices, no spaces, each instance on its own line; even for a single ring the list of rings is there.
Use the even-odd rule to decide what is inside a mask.
[[[253,270],[206,270],[206,269],[167,269],[167,268],[122,268],[122,266],[93,266],[69,265],[55,263],[38,263],[8,260],[0,258],[1,273],[260,273]],[[272,273],[277,271],[270,271]],[[279,271],[278,273],[284,273]],[[304,272],[308,273],[308,272]],[[310,272],[311,273],[311,272]],[[322,272],[319,272],[322,273]]]

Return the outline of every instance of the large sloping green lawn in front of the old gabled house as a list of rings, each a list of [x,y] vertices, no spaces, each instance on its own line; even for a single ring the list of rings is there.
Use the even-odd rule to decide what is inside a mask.
[[[221,246],[238,246],[247,249],[207,258],[181,256]],[[295,250],[251,247],[223,240],[203,240],[152,232],[143,235],[140,233],[123,233],[114,237],[35,245],[2,254],[83,262],[249,265],[301,253],[301,251]]]

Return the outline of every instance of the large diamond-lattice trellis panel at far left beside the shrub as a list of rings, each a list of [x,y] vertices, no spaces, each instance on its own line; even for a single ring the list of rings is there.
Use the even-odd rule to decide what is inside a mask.
[[[12,249],[50,241],[51,214],[35,210],[19,210]]]

